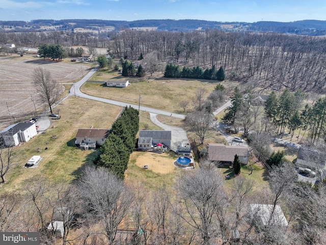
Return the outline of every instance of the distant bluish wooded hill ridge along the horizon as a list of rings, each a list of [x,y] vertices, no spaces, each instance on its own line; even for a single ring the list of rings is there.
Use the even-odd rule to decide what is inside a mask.
[[[220,29],[224,31],[252,31],[252,32],[276,32],[291,33],[309,36],[326,34],[326,21],[323,20],[300,20],[293,22],[258,21],[248,22],[219,22],[196,19],[147,19],[134,21],[100,20],[100,19],[36,19],[31,22],[25,21],[0,21],[0,28],[6,31],[40,31],[45,27],[56,27],[56,30],[73,30],[86,28],[96,30],[102,27],[114,27],[116,30],[125,28],[152,27],[162,31],[189,32],[204,29]]]

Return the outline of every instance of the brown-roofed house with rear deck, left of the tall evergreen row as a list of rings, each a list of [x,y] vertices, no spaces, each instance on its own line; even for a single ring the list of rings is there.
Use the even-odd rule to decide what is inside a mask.
[[[75,144],[85,150],[95,149],[97,145],[104,143],[108,131],[108,129],[78,129]]]

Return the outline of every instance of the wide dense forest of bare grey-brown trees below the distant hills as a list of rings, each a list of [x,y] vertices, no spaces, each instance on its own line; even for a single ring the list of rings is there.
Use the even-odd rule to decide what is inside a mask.
[[[187,33],[126,29],[99,36],[60,31],[0,33],[0,43],[9,42],[34,47],[43,43],[101,47],[115,58],[130,60],[155,51],[161,62],[203,69],[222,66],[226,79],[253,87],[318,93],[325,90],[326,39],[323,37],[216,29]]]

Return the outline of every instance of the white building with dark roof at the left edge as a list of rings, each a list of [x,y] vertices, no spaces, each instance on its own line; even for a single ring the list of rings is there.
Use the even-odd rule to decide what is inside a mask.
[[[12,126],[0,132],[6,146],[16,146],[20,142],[27,142],[37,135],[36,126],[31,122],[19,122]]]

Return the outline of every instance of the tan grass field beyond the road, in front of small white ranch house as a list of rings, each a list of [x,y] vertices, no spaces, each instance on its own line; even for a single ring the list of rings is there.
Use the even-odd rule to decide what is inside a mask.
[[[113,78],[120,79],[121,77]],[[104,80],[104,75],[100,76],[100,81]],[[123,80],[128,79],[123,78]],[[196,89],[203,87],[209,94],[214,90],[215,86],[216,83],[201,82],[197,80],[160,78],[141,82],[131,82],[131,84],[126,88],[103,87],[100,83],[85,83],[80,90],[90,95],[136,105],[139,103],[139,95],[141,94],[140,103],[142,106],[171,111],[174,113],[183,113],[182,108],[179,106],[181,101],[188,101],[188,109],[191,109]]]

